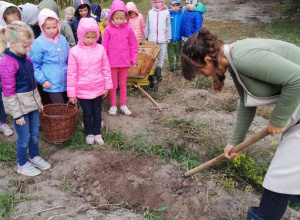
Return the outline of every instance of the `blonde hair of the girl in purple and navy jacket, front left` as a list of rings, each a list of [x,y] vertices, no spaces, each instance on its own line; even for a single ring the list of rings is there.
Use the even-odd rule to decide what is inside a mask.
[[[34,39],[32,29],[23,21],[14,21],[0,30],[0,54],[5,52],[7,42],[29,43]]]

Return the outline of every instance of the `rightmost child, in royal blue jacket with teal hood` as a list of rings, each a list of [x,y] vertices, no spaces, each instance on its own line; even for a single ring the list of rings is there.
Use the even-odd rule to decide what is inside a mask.
[[[205,6],[197,0],[186,0],[186,10],[181,23],[181,43],[183,46],[188,37],[196,34],[202,27],[202,14],[206,12]]]

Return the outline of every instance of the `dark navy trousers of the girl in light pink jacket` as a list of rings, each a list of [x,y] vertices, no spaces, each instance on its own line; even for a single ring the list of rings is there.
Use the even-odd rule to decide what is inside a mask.
[[[101,134],[102,96],[94,99],[79,99],[83,111],[83,124],[86,135]]]

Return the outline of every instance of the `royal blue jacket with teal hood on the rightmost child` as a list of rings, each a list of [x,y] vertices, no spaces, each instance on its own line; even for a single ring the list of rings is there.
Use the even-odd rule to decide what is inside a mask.
[[[189,37],[196,34],[202,27],[203,17],[202,14],[206,12],[206,8],[200,2],[196,4],[196,8],[192,11],[186,9],[183,13],[181,23],[181,35]]]

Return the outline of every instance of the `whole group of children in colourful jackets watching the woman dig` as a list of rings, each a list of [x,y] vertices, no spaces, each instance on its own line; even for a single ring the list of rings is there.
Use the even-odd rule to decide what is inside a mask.
[[[39,93],[46,93],[52,103],[76,104],[78,99],[86,143],[102,145],[101,103],[108,91],[110,115],[118,111],[118,87],[119,110],[132,114],[126,105],[126,80],[128,69],[137,65],[138,41],[145,38],[160,45],[156,71],[161,71],[166,48],[170,70],[180,68],[182,42],[202,25],[203,11],[197,9],[201,3],[188,1],[183,13],[180,0],[171,0],[170,10],[163,0],[153,0],[146,24],[133,2],[125,5],[121,0],[114,0],[110,9],[103,10],[88,0],[74,0],[74,8],[65,9],[65,20],[59,18],[54,0],[19,7],[0,1],[2,97],[18,135],[18,173],[35,176],[51,167],[38,150],[39,111],[43,109]],[[0,113],[5,115],[1,103]],[[1,131],[6,118],[0,114],[0,120]],[[12,131],[4,134],[11,135]]]

